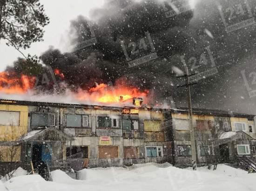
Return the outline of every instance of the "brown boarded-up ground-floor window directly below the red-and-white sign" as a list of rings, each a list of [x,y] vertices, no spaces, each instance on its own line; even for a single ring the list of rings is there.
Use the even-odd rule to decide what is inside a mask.
[[[118,158],[118,146],[99,146],[99,159]]]

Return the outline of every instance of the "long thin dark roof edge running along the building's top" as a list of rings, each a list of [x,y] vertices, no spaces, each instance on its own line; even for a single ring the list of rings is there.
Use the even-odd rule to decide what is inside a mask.
[[[27,106],[50,106],[50,107],[60,107],[60,108],[95,108],[95,109],[108,109],[108,110],[122,110],[123,108],[138,108],[135,106],[110,106],[110,105],[88,105],[88,104],[79,104],[79,103],[57,103],[57,102],[32,102],[32,101],[23,101],[23,100],[8,100],[0,99],[0,104],[12,104],[12,105],[27,105]],[[161,108],[161,107],[148,107],[147,105],[142,105],[140,109],[146,110],[169,110],[173,113],[188,113],[188,108]],[[249,120],[253,120],[255,115],[250,114],[241,114],[227,112],[218,109],[202,109],[202,108],[193,108],[193,114],[195,115],[214,115],[214,116],[226,116],[226,117],[242,117]]]

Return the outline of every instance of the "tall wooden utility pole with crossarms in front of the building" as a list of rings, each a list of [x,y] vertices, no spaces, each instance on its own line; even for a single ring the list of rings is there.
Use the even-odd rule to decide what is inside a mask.
[[[189,76],[193,76],[189,74],[189,69],[186,64],[185,66],[185,71],[186,74],[184,76],[178,76],[178,77],[186,77],[186,84],[177,86],[179,87],[186,87],[187,89],[187,99],[188,99],[188,105],[189,105],[189,121],[190,121],[190,143],[191,143],[191,154],[192,154],[192,165],[193,165],[193,170],[196,170],[197,164],[196,164],[196,149],[195,149],[195,134],[194,134],[194,127],[193,127],[193,113],[192,113],[192,104],[191,104],[191,94],[190,94],[190,86],[196,83],[190,83]]]

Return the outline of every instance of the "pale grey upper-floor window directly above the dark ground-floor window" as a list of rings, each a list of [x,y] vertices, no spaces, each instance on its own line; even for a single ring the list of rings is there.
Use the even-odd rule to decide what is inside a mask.
[[[88,115],[66,115],[67,127],[89,127]]]

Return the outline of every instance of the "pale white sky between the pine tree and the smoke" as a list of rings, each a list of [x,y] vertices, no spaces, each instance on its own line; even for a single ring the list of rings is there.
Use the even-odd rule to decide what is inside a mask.
[[[44,5],[47,16],[50,18],[50,24],[44,30],[44,41],[33,43],[30,49],[22,50],[25,55],[38,55],[53,45],[62,51],[66,49],[67,31],[70,26],[70,20],[75,19],[78,15],[89,17],[90,9],[102,6],[104,0],[40,0]],[[3,41],[0,42],[0,71],[5,70],[7,65],[13,64],[17,57],[22,55],[13,47],[8,47]]]

